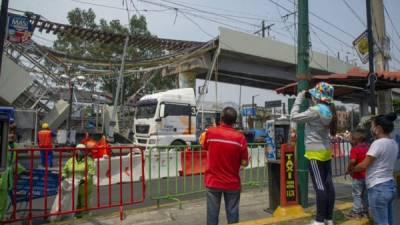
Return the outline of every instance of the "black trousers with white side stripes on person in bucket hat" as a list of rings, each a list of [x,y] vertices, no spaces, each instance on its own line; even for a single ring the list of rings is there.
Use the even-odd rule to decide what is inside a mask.
[[[309,161],[309,170],[315,194],[317,196],[317,222],[332,220],[335,206],[335,188],[332,181],[331,160]]]

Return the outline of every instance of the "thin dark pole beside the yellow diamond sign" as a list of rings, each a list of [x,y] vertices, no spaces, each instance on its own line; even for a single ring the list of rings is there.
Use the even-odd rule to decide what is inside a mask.
[[[371,0],[366,0],[367,5],[367,37],[368,37],[368,62],[369,62],[369,88],[371,95],[371,114],[375,115],[376,99],[375,99],[375,81],[376,75],[374,70],[374,38],[372,35],[372,15]]]

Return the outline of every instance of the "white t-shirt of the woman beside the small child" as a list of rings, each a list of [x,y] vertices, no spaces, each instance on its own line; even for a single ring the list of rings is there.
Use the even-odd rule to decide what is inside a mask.
[[[367,155],[374,157],[375,161],[367,169],[367,188],[393,180],[398,153],[399,147],[393,139],[380,138],[372,143]]]

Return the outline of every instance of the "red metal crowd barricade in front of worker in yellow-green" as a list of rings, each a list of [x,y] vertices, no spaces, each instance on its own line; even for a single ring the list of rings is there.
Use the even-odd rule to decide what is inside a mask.
[[[92,153],[97,150],[10,150],[15,154],[11,205],[0,222],[56,221],[115,207],[119,207],[122,220],[124,206],[145,200],[144,150],[111,147],[113,156],[93,159]],[[48,162],[50,151],[54,166],[40,166],[39,155],[44,154]]]

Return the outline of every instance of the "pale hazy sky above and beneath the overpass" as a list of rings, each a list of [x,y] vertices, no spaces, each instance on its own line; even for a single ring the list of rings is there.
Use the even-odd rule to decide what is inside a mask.
[[[297,37],[293,25],[295,18],[285,18],[295,10],[293,0],[133,0],[133,3],[137,11],[129,4],[131,14],[144,15],[149,31],[161,38],[207,41],[218,35],[219,26],[254,33],[260,29],[263,19],[267,25],[274,24],[270,32],[274,39],[293,44]],[[393,57],[389,64],[391,69],[400,70],[400,1],[385,0],[384,4],[396,27],[394,29],[386,15]],[[75,7],[92,8],[97,20],[119,19],[122,24],[127,24],[126,11],[118,9],[124,7],[122,0],[12,0],[9,7],[31,11],[60,23],[67,23],[67,13]],[[360,65],[351,43],[366,29],[365,0],[310,0],[309,8],[312,49],[333,56],[339,52],[342,59],[347,56]],[[54,36],[35,32],[34,40],[51,45]],[[197,83],[200,85],[202,81]],[[214,90],[211,83],[206,100],[215,100]],[[218,90],[220,101],[238,103],[238,86],[219,84]],[[242,103],[251,103],[251,96],[257,94],[260,95],[256,97],[259,105],[266,100],[283,98],[273,91],[244,87]]]

